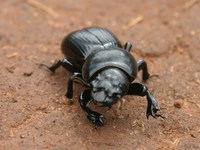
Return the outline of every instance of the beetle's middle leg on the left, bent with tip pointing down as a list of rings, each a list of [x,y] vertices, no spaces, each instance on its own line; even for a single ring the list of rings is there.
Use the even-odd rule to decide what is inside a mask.
[[[71,99],[73,97],[73,82],[76,81],[78,83],[80,83],[81,85],[85,86],[85,87],[90,87],[90,84],[85,82],[82,79],[82,76],[80,73],[74,73],[73,76],[70,77],[69,81],[68,81],[68,86],[67,86],[67,92],[65,94],[65,96],[69,99]]]

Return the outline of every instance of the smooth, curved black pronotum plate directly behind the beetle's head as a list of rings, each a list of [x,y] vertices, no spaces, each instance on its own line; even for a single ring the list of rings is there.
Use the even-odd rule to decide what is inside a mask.
[[[116,67],[123,70],[130,81],[137,76],[137,64],[129,52],[122,48],[103,49],[91,53],[82,68],[83,79],[89,81],[102,69]]]

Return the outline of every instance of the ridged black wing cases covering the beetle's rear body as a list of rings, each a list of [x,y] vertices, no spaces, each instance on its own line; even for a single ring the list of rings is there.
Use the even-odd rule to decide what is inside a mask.
[[[67,58],[85,60],[95,50],[122,47],[118,39],[104,28],[86,28],[67,35],[62,44],[62,53]]]

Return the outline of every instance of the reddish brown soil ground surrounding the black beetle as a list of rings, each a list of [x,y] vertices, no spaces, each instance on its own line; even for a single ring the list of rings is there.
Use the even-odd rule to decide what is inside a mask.
[[[200,2],[198,0],[33,0],[0,2],[0,149],[200,149]],[[39,0],[38,0],[39,1]],[[49,9],[51,9],[49,11]],[[149,65],[165,119],[146,119],[145,97],[125,96],[94,129],[64,96],[70,73],[38,66],[63,58],[69,32],[106,27]],[[140,78],[138,79],[140,80]]]

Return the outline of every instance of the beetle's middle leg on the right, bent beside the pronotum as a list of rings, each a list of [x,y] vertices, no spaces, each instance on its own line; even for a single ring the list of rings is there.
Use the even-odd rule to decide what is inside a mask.
[[[147,63],[144,60],[139,60],[137,62],[138,71],[142,70],[142,81],[147,81],[151,77],[158,77],[158,75],[150,75],[148,72]]]

